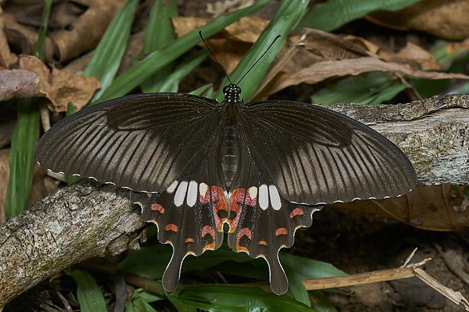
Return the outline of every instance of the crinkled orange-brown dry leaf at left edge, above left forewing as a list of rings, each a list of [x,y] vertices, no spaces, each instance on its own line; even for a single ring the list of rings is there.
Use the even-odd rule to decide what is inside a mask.
[[[99,89],[99,80],[65,69],[53,68],[51,72],[35,56],[20,55],[18,69],[0,70],[0,86],[0,101],[13,96],[45,96],[53,110],[65,112],[69,102],[77,110],[86,105]]]

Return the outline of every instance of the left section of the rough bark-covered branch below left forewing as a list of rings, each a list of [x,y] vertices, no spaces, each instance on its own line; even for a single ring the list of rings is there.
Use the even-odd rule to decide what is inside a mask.
[[[51,275],[138,248],[145,223],[129,190],[81,180],[0,223],[0,310]]]

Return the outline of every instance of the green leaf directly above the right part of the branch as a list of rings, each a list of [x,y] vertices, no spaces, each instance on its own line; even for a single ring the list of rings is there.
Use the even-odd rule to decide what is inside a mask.
[[[392,73],[375,71],[360,76],[350,76],[335,85],[311,96],[311,103],[331,105],[335,103],[359,103],[378,105],[394,98],[406,89]]]

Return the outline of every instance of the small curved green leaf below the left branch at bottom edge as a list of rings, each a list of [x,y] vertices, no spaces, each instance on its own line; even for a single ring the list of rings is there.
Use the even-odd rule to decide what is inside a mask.
[[[94,278],[82,270],[65,270],[65,273],[74,279],[78,285],[76,294],[80,303],[81,312],[106,312],[106,303],[103,294]]]

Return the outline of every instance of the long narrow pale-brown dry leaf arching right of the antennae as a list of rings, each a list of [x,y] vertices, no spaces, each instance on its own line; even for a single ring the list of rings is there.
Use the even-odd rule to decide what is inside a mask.
[[[290,68],[290,67],[289,67]],[[426,79],[469,79],[469,76],[461,73],[440,73],[436,71],[420,71],[406,64],[384,62],[377,58],[355,58],[349,60],[337,60],[319,62],[293,73],[284,73],[278,80],[269,85],[268,94],[278,92],[281,89],[300,83],[319,83],[327,78],[348,75],[359,75],[369,71],[388,71],[399,75],[412,76]]]

